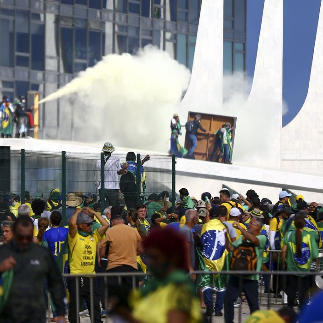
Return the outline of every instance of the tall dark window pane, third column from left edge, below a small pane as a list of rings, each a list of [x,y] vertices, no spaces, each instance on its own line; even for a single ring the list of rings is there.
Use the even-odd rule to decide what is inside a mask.
[[[44,25],[31,24],[31,69],[44,70]]]

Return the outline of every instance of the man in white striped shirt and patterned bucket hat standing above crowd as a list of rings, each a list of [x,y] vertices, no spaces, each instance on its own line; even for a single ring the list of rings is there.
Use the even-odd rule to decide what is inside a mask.
[[[112,152],[115,151],[112,143],[106,142],[102,151],[104,152],[104,185],[100,182],[99,194],[101,188],[104,188],[105,207],[108,207],[109,205],[115,206],[118,204],[118,192],[120,189],[118,178],[120,160],[118,157],[111,157]],[[100,170],[101,160],[98,160],[97,166]]]

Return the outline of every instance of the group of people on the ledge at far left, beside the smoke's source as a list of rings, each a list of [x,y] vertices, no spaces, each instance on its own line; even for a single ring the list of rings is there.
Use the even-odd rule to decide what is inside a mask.
[[[1,138],[23,138],[33,126],[33,107],[28,109],[24,96],[10,101],[6,96],[0,102],[0,134]]]

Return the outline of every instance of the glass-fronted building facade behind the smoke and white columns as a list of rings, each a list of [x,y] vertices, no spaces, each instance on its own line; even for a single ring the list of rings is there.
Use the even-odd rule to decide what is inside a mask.
[[[147,44],[192,70],[201,2],[0,0],[1,95],[43,98],[102,56]],[[224,0],[224,73],[245,70],[245,17],[246,0]],[[41,106],[41,138],[75,139],[60,138],[59,105]]]

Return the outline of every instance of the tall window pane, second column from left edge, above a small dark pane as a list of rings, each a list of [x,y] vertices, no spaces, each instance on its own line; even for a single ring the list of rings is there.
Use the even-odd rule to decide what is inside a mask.
[[[29,12],[26,10],[16,11],[16,52],[29,53]]]

